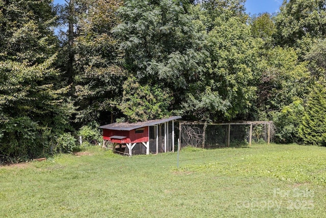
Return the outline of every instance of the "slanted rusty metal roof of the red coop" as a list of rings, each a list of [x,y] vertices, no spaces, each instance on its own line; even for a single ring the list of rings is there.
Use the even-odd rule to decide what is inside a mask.
[[[108,130],[123,130],[123,131],[130,131],[142,127],[147,126],[155,126],[157,124],[162,124],[169,122],[171,120],[180,119],[181,116],[171,116],[166,119],[154,119],[154,120],[148,120],[145,122],[137,122],[137,123],[113,123],[113,124],[107,124],[104,126],[100,126],[101,129],[108,129]]]

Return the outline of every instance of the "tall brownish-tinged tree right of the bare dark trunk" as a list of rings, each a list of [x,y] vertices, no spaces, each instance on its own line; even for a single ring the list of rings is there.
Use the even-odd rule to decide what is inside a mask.
[[[121,0],[77,1],[83,8],[76,15],[77,35],[74,39],[76,121],[112,122],[117,102],[121,99],[125,80],[118,48],[112,30],[119,19]],[[111,115],[111,116],[110,116]]]

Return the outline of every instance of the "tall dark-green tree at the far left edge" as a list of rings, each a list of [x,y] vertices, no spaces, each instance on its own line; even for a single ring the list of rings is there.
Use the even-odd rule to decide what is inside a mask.
[[[1,0],[0,6],[0,147],[8,156],[33,157],[42,151],[37,139],[44,128],[62,132],[69,127],[70,110],[62,98],[69,87],[56,84],[59,72],[53,68],[55,13],[50,0]]]

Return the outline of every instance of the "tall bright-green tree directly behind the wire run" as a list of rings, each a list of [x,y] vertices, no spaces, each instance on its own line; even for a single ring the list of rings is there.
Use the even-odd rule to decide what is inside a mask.
[[[182,103],[183,111],[214,121],[247,117],[256,97],[262,42],[251,36],[243,1],[203,1],[196,13],[207,58],[204,74],[193,85],[196,91],[188,92]]]

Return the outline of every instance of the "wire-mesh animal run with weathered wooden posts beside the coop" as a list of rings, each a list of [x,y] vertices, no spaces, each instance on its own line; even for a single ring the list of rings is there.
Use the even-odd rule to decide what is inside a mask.
[[[179,141],[181,147],[201,148],[230,147],[230,144],[248,144],[252,142],[269,143],[274,136],[275,127],[271,121],[239,123],[179,123]]]

